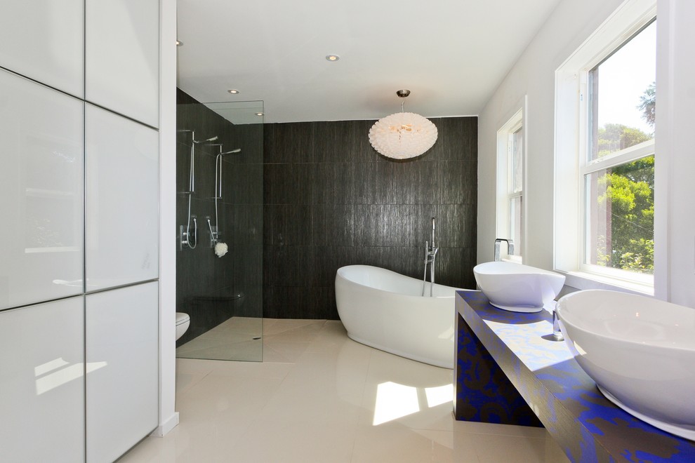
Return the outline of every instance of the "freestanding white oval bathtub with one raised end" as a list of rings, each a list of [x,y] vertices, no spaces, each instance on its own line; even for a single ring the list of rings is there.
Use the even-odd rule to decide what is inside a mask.
[[[341,267],[336,274],[338,315],[348,336],[418,362],[454,368],[456,290],[369,265]]]

